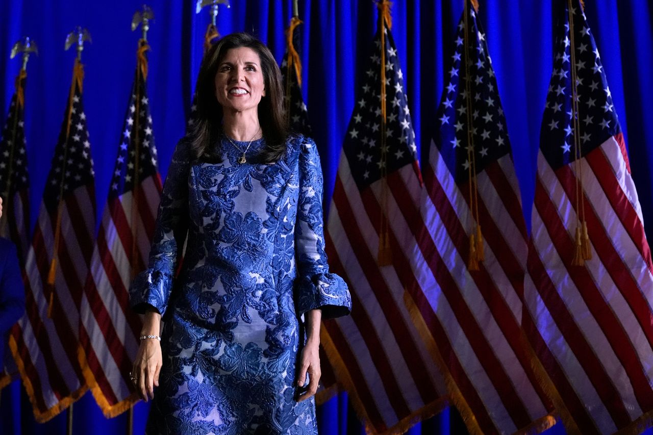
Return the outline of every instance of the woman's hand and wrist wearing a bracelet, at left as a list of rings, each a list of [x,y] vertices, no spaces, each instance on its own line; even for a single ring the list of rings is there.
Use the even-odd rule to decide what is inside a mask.
[[[159,335],[161,325],[161,314],[147,312],[143,323],[141,335]],[[161,342],[156,338],[144,338],[140,340],[138,353],[132,368],[131,376],[136,387],[136,393],[145,402],[154,398],[154,387],[159,386],[159,372],[163,365],[161,355]]]

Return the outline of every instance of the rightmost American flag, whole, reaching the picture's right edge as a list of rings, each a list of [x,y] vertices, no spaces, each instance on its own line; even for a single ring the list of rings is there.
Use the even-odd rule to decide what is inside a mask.
[[[567,427],[639,432],[653,417],[650,249],[579,1],[569,1],[560,19],[537,156],[524,328],[564,400]],[[591,259],[576,250],[582,221]]]

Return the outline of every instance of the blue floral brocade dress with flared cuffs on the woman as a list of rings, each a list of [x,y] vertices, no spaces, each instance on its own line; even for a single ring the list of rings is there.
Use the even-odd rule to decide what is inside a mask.
[[[243,150],[246,142],[236,142]],[[164,315],[163,368],[148,434],[316,434],[315,402],[296,402],[300,317],[349,314],[328,272],[319,155],[293,136],[274,164],[247,162],[223,138],[221,163],[172,156],[150,251],[131,304]],[[182,270],[173,276],[188,234]]]

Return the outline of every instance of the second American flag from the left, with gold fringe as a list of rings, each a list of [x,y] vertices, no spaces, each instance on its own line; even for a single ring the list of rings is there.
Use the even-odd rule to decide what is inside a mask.
[[[10,347],[37,421],[47,421],[88,387],[78,362],[79,307],[93,250],[95,182],[76,60],[39,220],[25,259],[27,313]],[[54,282],[54,285],[52,284]]]

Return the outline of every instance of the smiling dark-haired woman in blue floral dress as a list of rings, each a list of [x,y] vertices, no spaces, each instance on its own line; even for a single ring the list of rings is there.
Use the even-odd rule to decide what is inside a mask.
[[[317,433],[321,318],[351,310],[328,273],[317,148],[287,133],[281,73],[249,35],[215,44],[196,92],[195,131],[174,151],[150,266],[131,289],[147,432]]]

